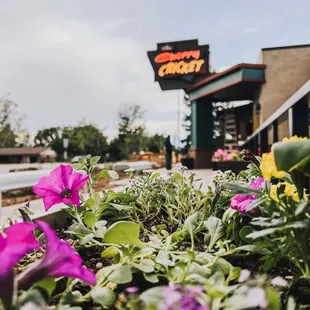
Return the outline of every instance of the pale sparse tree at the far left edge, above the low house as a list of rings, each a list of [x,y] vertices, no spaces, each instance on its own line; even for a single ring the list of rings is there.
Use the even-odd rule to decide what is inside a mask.
[[[19,146],[17,138],[22,129],[23,116],[18,113],[18,105],[7,98],[0,99],[0,147]]]

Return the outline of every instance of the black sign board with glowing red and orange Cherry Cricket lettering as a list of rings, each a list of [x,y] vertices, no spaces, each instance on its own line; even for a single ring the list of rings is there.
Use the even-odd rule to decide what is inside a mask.
[[[147,54],[162,90],[184,89],[209,75],[209,45],[198,40],[158,43]]]

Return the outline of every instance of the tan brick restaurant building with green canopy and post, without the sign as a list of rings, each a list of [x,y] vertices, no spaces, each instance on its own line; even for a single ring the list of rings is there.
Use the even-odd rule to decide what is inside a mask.
[[[226,149],[249,148],[260,154],[284,137],[309,137],[310,45],[263,48],[255,64],[240,63],[220,73],[205,72],[187,80],[190,82],[184,87],[185,76],[179,70],[176,77],[182,78],[182,89],[190,102],[189,155],[196,169],[212,167],[216,103],[246,102],[223,112]]]

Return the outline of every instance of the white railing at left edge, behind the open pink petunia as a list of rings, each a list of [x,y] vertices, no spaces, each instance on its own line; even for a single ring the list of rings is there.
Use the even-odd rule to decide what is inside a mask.
[[[43,176],[49,175],[50,170],[10,172],[0,174],[0,219],[2,218],[2,192],[30,187]]]

